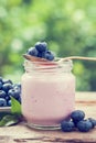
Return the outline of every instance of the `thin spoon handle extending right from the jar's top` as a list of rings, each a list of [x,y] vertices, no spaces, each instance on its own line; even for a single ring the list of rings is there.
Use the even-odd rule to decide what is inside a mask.
[[[96,57],[85,57],[85,56],[70,56],[70,57],[64,57],[64,58],[61,58],[60,62],[67,61],[67,59],[82,59],[82,61],[95,61],[96,62]]]

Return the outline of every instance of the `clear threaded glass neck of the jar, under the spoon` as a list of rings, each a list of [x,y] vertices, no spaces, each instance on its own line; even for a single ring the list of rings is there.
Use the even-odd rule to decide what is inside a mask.
[[[46,62],[24,61],[24,69],[26,73],[71,73],[72,68],[72,61],[65,61],[61,63],[56,61],[54,64]]]

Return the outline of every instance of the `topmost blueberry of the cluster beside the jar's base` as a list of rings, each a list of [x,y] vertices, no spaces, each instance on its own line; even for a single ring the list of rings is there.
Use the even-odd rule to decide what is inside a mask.
[[[85,118],[85,113],[82,110],[75,110],[71,113],[71,118],[73,119],[74,123],[77,123]]]

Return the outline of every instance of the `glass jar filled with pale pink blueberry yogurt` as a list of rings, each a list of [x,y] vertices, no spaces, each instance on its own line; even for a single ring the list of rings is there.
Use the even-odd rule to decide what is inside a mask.
[[[24,62],[22,113],[35,129],[60,129],[75,107],[75,77],[72,61],[55,64]]]

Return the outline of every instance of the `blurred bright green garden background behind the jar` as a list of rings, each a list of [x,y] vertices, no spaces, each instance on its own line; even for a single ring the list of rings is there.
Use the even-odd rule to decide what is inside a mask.
[[[38,41],[56,56],[96,57],[96,0],[0,0],[0,76],[21,80]],[[74,61],[77,91],[96,90],[96,62]]]

